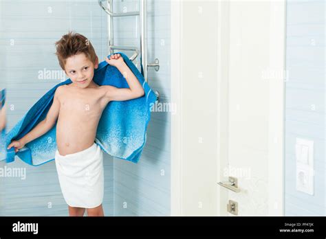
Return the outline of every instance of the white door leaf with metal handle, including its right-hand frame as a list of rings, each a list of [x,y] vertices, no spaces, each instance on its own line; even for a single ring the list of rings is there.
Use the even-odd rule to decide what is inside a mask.
[[[217,214],[283,215],[285,1],[219,6],[219,179],[239,192],[221,186]]]

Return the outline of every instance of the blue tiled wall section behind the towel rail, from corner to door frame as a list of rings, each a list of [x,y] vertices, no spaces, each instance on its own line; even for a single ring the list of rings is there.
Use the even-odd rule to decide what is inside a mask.
[[[115,1],[114,12],[139,10],[140,1]],[[170,1],[147,1],[148,61],[160,60],[160,71],[149,67],[149,85],[170,100]],[[140,44],[139,17],[114,19],[115,44]],[[140,62],[140,58],[136,59]],[[137,64],[137,63],[136,63]],[[116,216],[170,215],[170,112],[153,112],[146,145],[137,165],[114,161],[114,214]]]

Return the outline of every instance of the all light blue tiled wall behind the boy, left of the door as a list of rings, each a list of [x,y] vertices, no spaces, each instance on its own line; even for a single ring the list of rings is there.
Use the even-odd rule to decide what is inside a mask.
[[[46,91],[65,80],[54,55],[54,43],[69,30],[89,38],[100,62],[120,51],[133,58],[151,89],[157,96],[160,93],[157,103],[169,102],[170,1],[110,3],[114,14],[146,12],[110,19],[95,0],[0,1],[1,81],[6,82],[8,95],[7,130]],[[101,4],[108,7],[106,1]],[[145,23],[146,28],[141,27]],[[133,51],[123,47],[113,51],[113,43],[139,52],[133,56]],[[160,68],[156,58],[160,59]],[[145,62],[149,67],[142,67]],[[154,108],[138,164],[105,155],[105,216],[170,215],[170,147],[169,111]],[[19,172],[16,177],[0,177],[1,216],[67,216],[54,161],[32,167],[16,157],[13,163],[0,161],[0,166],[3,172]]]

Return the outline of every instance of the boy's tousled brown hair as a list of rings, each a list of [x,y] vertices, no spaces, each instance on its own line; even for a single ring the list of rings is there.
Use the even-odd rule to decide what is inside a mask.
[[[68,34],[63,35],[62,38],[56,42],[56,56],[58,56],[59,65],[64,71],[67,58],[80,53],[84,53],[95,65],[97,56],[94,47],[82,34],[68,32]]]

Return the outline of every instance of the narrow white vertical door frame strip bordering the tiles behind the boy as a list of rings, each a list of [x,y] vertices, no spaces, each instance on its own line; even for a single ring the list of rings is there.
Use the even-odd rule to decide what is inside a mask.
[[[182,216],[182,1],[171,0],[171,216]],[[173,53],[173,54],[172,54]]]

